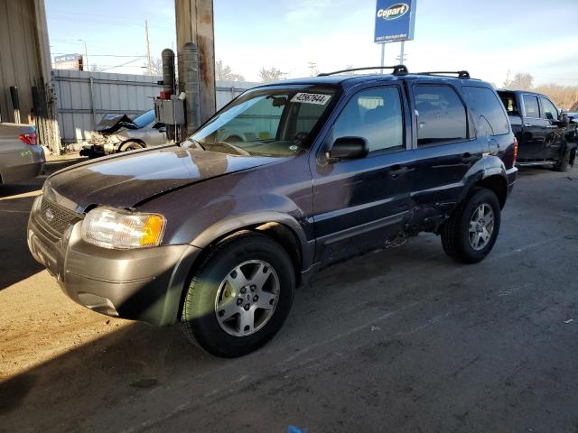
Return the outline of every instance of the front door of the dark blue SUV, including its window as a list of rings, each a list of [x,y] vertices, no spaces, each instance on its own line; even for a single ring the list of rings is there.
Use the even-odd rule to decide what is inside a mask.
[[[316,260],[333,263],[384,247],[409,216],[414,175],[406,143],[409,109],[397,85],[365,88],[343,106],[324,149],[340,137],[368,141],[366,158],[312,159]],[[322,149],[322,151],[324,150]]]

